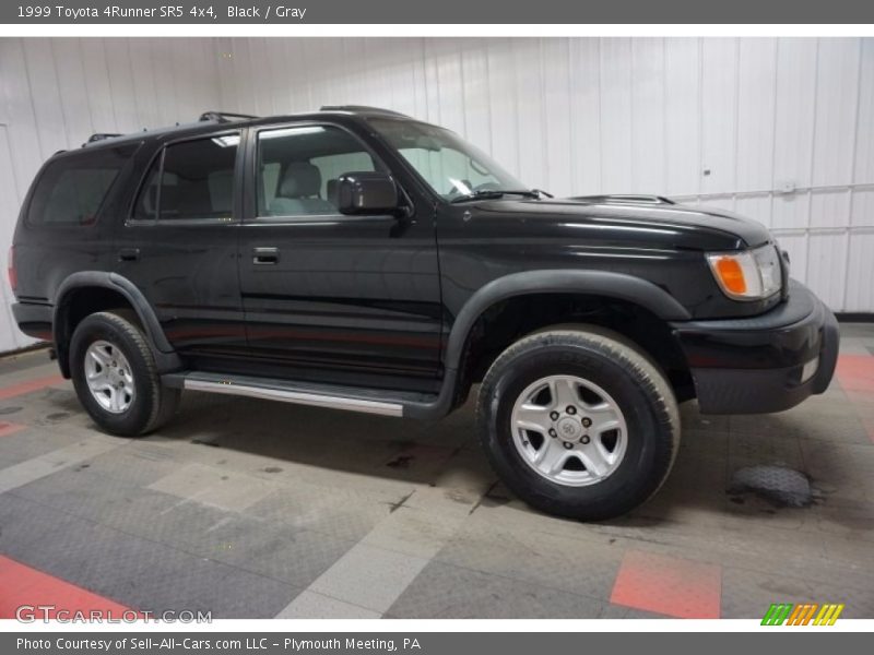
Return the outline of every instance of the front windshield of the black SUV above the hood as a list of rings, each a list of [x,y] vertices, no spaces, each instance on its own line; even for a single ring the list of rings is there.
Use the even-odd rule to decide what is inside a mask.
[[[375,118],[370,123],[446,200],[528,189],[492,157],[449,130],[411,120]]]

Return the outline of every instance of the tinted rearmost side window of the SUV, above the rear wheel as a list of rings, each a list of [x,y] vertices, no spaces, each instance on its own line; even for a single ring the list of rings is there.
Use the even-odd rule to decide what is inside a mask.
[[[121,167],[139,144],[60,157],[49,164],[34,188],[29,225],[93,225]]]

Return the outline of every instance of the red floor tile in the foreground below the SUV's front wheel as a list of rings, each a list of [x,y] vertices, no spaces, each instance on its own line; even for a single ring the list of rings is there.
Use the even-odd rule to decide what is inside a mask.
[[[629,550],[610,602],[680,619],[718,619],[721,594],[718,565]]]

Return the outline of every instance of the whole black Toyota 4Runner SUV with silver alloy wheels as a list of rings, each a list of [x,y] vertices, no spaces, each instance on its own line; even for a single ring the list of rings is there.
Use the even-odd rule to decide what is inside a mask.
[[[838,353],[761,225],[553,199],[368,107],[94,135],[39,171],[10,261],[19,326],[109,432],[156,429],[182,389],[439,419],[480,383],[500,478],[586,520],[659,488],[677,402],[787,409]]]

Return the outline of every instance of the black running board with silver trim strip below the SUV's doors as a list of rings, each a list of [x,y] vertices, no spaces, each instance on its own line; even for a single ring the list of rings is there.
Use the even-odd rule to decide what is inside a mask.
[[[168,373],[162,377],[162,381],[167,386],[191,391],[225,393],[297,405],[398,417],[409,414],[421,415],[421,409],[424,408],[437,409],[438,401],[437,394],[358,389],[205,372]],[[409,412],[411,408],[418,408],[420,412],[414,409],[411,413]]]

